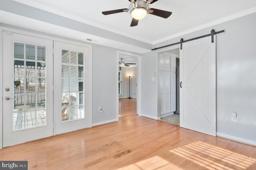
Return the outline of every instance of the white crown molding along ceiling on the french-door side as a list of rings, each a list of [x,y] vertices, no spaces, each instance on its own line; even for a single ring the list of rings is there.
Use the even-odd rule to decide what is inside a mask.
[[[69,19],[72,19],[72,20],[75,20],[75,21],[86,23],[86,24],[92,25],[94,27],[105,29],[105,30],[110,31],[110,32],[114,32],[114,33],[117,33],[117,34],[120,34],[120,35],[124,35],[126,37],[130,37],[132,39],[136,39],[138,41],[142,41],[144,43],[152,44],[152,41],[150,41],[148,39],[143,39],[141,37],[137,37],[135,35],[126,33],[124,31],[120,31],[118,29],[113,29],[113,28],[108,27],[106,25],[103,25],[103,24],[100,24],[100,23],[97,23],[97,22],[94,22],[94,21],[91,21],[91,20],[87,20],[87,19],[82,18],[80,16],[76,16],[76,15],[70,14],[68,12],[64,12],[62,10],[58,10],[56,8],[53,8],[53,7],[41,4],[39,2],[35,2],[33,0],[13,0],[13,1],[16,1],[16,2],[19,2],[19,3],[25,4],[25,5],[28,5],[28,6],[32,6],[34,8],[38,8],[40,10],[44,10],[44,11],[50,12],[52,14],[63,16],[63,17],[66,17],[66,18],[69,18]]]

